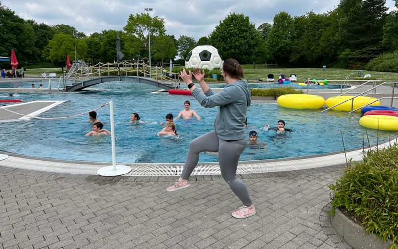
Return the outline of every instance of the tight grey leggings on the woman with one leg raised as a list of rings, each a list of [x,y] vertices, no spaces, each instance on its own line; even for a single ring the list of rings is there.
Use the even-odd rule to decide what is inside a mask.
[[[218,152],[220,171],[223,179],[232,191],[241,199],[245,206],[251,205],[245,184],[236,177],[236,169],[241,153],[246,148],[246,139],[226,141],[219,139],[215,131],[201,135],[189,144],[187,160],[181,173],[181,178],[188,180],[199,161],[199,153],[204,151]]]

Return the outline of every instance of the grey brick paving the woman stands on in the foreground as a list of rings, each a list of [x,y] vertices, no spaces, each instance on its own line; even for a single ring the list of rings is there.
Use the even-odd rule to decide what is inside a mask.
[[[0,167],[1,248],[350,248],[330,227],[341,166],[242,174],[257,215],[220,176],[110,177]],[[326,208],[325,208],[326,207]]]

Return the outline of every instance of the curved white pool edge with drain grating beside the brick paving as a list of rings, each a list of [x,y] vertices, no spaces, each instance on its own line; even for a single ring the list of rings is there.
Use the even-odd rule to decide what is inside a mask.
[[[394,144],[396,138],[391,141],[381,143],[371,147],[385,148]],[[328,166],[345,165],[349,159],[361,161],[363,152],[369,148],[352,149],[346,153],[340,151],[337,153],[323,154],[319,156],[306,156],[297,158],[284,158],[258,161],[241,161],[238,164],[237,174],[255,174],[270,173],[281,171],[296,171],[304,169],[321,168]],[[1,152],[0,152],[1,154]],[[49,158],[29,157],[4,152],[9,155],[8,158],[0,161],[0,166],[17,169],[46,171],[53,173],[66,174],[87,174],[96,175],[97,171],[111,163],[66,161]],[[347,156],[347,161],[346,161]],[[131,171],[125,176],[176,176],[180,175],[184,167],[183,163],[121,163],[131,167]],[[117,166],[116,166],[117,167]],[[220,175],[220,167],[215,163],[198,163],[191,175]]]

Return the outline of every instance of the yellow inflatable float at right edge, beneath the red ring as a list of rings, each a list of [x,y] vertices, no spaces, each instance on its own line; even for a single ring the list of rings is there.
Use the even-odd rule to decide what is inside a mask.
[[[366,115],[359,119],[359,124],[370,129],[398,130],[398,117],[387,115]]]

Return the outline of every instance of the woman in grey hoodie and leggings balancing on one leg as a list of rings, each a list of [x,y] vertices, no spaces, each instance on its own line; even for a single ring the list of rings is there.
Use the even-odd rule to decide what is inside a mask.
[[[199,82],[204,94],[192,82],[192,75]],[[167,191],[189,187],[188,178],[199,161],[200,152],[218,152],[221,175],[244,205],[233,212],[232,216],[243,219],[256,214],[245,184],[236,177],[239,157],[247,145],[245,120],[246,111],[251,103],[251,92],[247,81],[241,80],[243,69],[237,60],[225,60],[221,75],[227,86],[223,91],[214,94],[204,81],[204,71],[200,73],[196,68],[193,73],[189,71],[187,74],[185,69],[180,72],[180,77],[188,85],[195,99],[206,108],[219,106],[219,111],[214,121],[215,131],[191,141],[180,178],[168,187]]]

